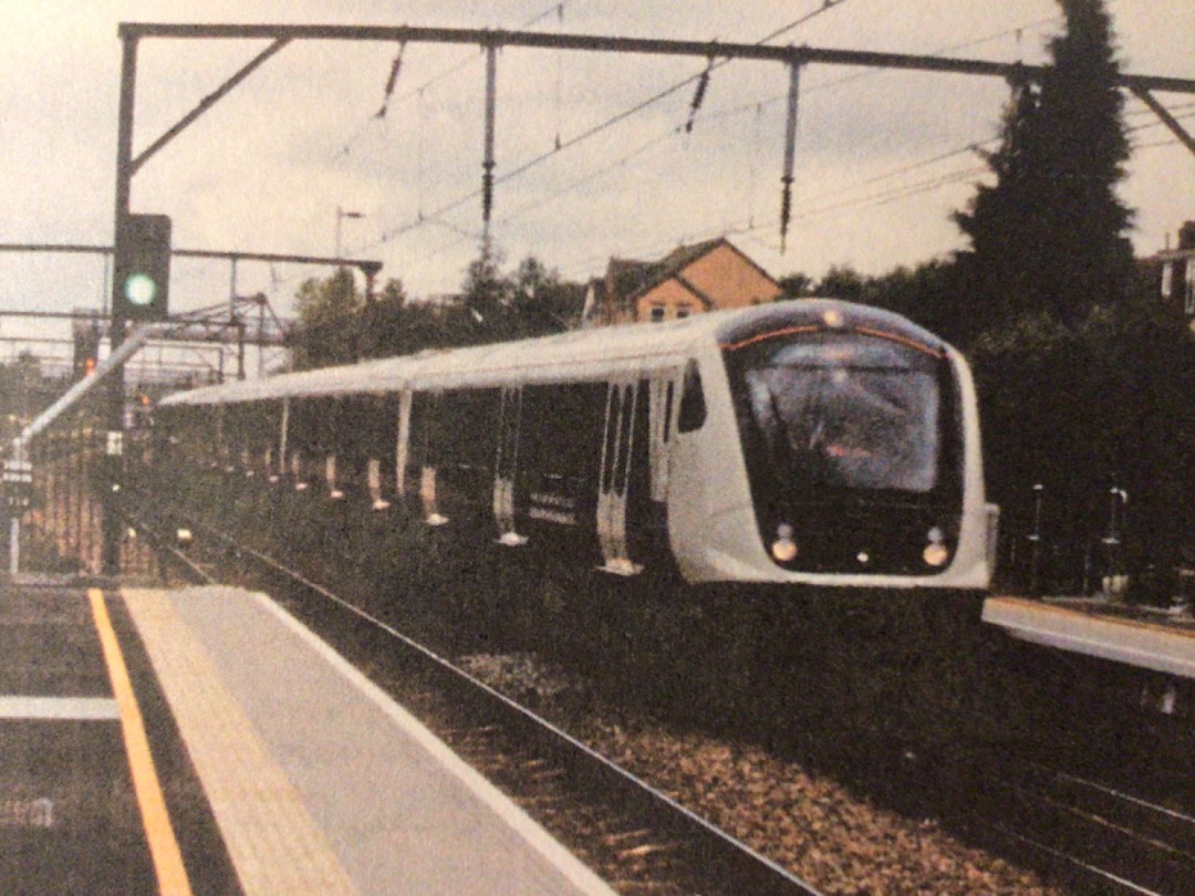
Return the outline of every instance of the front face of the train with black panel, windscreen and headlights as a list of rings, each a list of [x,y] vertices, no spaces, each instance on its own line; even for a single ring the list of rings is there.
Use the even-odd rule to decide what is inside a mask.
[[[746,315],[718,343],[764,578],[987,585],[975,395],[956,351],[896,314],[821,300]]]

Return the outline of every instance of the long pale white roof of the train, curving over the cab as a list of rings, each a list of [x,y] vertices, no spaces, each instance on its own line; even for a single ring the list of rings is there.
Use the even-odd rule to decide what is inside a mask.
[[[207,386],[177,392],[161,404],[235,404],[284,397],[317,398],[410,388],[484,388],[511,382],[646,375],[675,369],[699,349],[711,344],[734,343],[776,327],[827,320],[832,313],[841,315],[847,325],[853,324],[856,329],[882,325],[902,340],[915,340],[936,352],[945,351],[937,337],[890,312],[829,299],[801,299],[697,314],[684,320],[574,330],[537,339],[429,350]]]

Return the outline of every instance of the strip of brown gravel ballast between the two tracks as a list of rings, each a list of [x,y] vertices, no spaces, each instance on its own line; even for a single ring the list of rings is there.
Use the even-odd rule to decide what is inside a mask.
[[[825,894],[1064,892],[932,818],[876,805],[755,744],[602,706],[584,680],[531,653],[474,653],[459,662]]]

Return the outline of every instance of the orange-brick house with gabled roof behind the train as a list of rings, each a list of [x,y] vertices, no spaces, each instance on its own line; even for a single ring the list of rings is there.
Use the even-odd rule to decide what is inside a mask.
[[[658,323],[776,301],[783,289],[725,238],[680,246],[658,262],[611,258],[589,282],[583,326]]]

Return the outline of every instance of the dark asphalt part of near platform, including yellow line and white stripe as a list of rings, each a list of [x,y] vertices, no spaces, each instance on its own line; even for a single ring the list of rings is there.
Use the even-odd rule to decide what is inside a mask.
[[[148,669],[117,600],[0,584],[0,892],[241,892]]]

